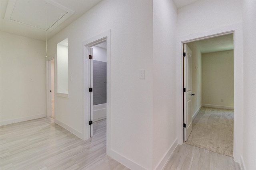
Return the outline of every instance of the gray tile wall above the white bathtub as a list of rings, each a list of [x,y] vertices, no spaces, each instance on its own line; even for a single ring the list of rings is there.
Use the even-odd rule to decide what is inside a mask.
[[[93,105],[107,103],[107,63],[93,60]]]

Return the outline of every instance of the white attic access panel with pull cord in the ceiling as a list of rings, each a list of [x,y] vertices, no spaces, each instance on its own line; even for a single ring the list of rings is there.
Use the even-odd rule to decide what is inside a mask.
[[[72,14],[72,10],[53,1],[9,0],[4,19],[52,31]]]

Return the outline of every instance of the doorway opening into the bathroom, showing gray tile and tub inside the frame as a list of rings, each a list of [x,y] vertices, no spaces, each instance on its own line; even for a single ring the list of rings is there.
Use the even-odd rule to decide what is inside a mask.
[[[105,41],[90,47],[90,137],[98,130],[98,124],[106,124],[107,117],[107,44]],[[97,123],[95,127],[93,124]]]

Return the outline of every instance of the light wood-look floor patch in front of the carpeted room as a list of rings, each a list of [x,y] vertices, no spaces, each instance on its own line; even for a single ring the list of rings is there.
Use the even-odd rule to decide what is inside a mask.
[[[178,145],[164,170],[241,170],[240,164],[230,156],[194,147]]]

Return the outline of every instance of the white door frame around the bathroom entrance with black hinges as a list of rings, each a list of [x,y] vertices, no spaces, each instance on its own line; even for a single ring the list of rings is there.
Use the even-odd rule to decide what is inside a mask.
[[[111,30],[105,31],[99,35],[96,35],[90,39],[87,39],[82,43],[84,47],[84,140],[90,138],[90,107],[91,98],[88,88],[90,88],[90,60],[88,55],[90,54],[90,47],[93,47],[102,42],[107,42],[107,127],[106,127],[106,146],[107,154],[110,152],[111,146]]]

